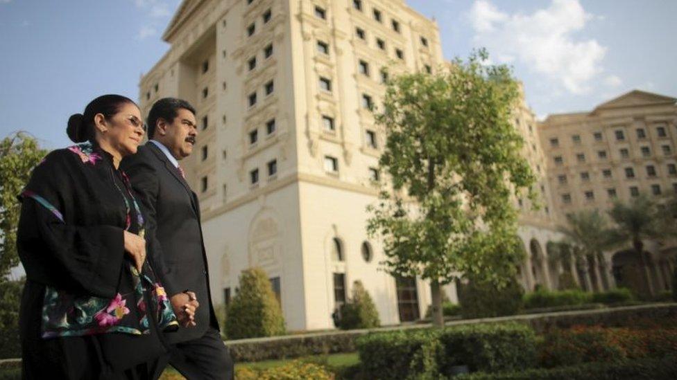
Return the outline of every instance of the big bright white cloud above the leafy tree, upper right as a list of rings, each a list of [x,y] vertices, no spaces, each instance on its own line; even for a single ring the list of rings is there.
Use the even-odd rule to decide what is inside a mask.
[[[574,37],[595,19],[578,0],[552,0],[531,14],[508,14],[488,0],[477,0],[468,16],[475,44],[488,48],[499,62],[525,64],[570,93],[590,91],[590,81],[603,71],[606,47]]]

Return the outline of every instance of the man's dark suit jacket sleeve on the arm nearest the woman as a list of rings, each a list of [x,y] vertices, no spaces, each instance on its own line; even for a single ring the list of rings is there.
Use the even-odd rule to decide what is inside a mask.
[[[144,207],[146,216],[146,250],[150,257],[151,265],[169,296],[180,293],[183,289],[177,289],[175,273],[164,262],[162,244],[157,239],[157,197],[160,193],[160,183],[157,180],[157,170],[153,165],[144,160],[142,154],[135,154],[123,161],[123,170],[129,176],[132,188]],[[180,231],[177,231],[180,233]]]

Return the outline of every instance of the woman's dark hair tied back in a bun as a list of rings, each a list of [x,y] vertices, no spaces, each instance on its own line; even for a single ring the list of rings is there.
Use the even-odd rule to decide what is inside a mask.
[[[94,115],[103,114],[108,119],[117,114],[120,107],[127,103],[136,105],[136,103],[121,95],[102,95],[89,102],[85,107],[85,114],[73,114],[68,118],[68,127],[66,133],[74,143],[83,143],[84,141],[94,140]]]

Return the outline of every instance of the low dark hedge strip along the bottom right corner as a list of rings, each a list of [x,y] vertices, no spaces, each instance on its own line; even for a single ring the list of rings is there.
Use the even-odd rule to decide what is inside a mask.
[[[638,359],[622,363],[588,363],[558,368],[534,368],[522,372],[497,374],[462,374],[458,380],[616,380],[616,379],[677,379],[677,356],[662,359]]]

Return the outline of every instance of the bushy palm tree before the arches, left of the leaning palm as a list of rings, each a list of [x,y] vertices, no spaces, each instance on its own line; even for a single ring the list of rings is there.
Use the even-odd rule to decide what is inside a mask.
[[[602,271],[602,279],[597,278],[597,271],[594,271],[597,264],[603,262],[603,251],[616,245],[606,219],[597,210],[583,210],[567,215],[567,221],[569,226],[562,232],[567,235],[566,242],[572,246],[574,253],[588,259],[588,268],[593,269],[590,270],[590,278],[594,291],[608,288],[607,271]]]

